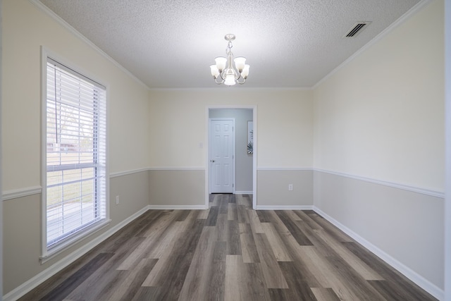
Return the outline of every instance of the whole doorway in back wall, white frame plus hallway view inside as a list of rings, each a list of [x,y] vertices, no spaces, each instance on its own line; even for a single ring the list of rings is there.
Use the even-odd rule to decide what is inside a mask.
[[[213,123],[213,121],[215,122]],[[227,123],[227,121],[235,121],[233,125],[235,139],[233,141],[230,141],[230,139],[233,139],[233,136],[229,135],[230,132],[226,130],[226,128],[230,128],[230,124],[232,123],[223,124]],[[257,106],[208,106],[206,108],[206,208],[209,207],[210,193],[249,194],[252,195],[252,207],[256,207],[256,121]],[[253,152],[249,152],[247,145],[249,142],[247,133],[249,126],[250,130],[252,130]],[[221,129],[221,127],[223,128]],[[221,133],[224,130],[226,130],[226,133]],[[230,146],[233,146],[232,151],[228,149]],[[230,156],[226,155],[221,157],[221,153],[230,154],[230,152],[232,152],[231,161]],[[229,185],[230,179],[232,180],[231,185]]]

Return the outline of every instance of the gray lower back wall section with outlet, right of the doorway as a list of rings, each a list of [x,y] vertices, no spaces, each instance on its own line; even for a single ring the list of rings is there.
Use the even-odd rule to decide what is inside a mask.
[[[288,185],[293,190],[288,190]],[[258,170],[257,209],[261,206],[313,206],[313,171]]]

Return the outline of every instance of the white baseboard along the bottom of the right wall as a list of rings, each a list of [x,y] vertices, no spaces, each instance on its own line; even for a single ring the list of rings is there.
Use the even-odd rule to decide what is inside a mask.
[[[337,228],[339,228],[341,231],[345,232],[347,235],[350,235],[352,239],[359,242],[359,244],[366,247],[366,249],[370,250],[374,254],[376,254],[377,257],[381,258],[384,262],[387,264],[390,264],[394,269],[399,271],[401,274],[409,278],[411,281],[416,283],[416,285],[419,285],[420,288],[423,288],[426,290],[426,292],[433,295],[433,297],[437,298],[438,300],[445,300],[445,292],[444,290],[438,288],[438,286],[434,285],[430,281],[428,281],[426,278],[422,277],[421,275],[417,274],[415,271],[412,271],[412,269],[409,269],[408,266],[405,266],[401,262],[397,261],[397,259],[391,257],[389,254],[383,252],[383,250],[379,249],[375,245],[373,245],[368,240],[362,238],[362,236],[358,235],[354,231],[352,231],[350,228],[347,228],[345,225],[340,223],[339,221],[333,219],[332,216],[329,216],[325,212],[321,211],[318,207],[314,207],[313,210],[318,213],[319,215],[323,216],[324,219],[330,221],[330,223],[333,223],[333,225]]]

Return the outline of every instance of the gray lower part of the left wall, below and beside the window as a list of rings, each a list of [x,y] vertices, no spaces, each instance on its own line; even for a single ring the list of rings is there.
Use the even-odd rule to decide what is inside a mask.
[[[4,201],[4,294],[7,295],[42,271],[52,269],[52,265],[71,252],[87,245],[99,235],[147,207],[149,205],[148,186],[149,173],[147,171],[110,178],[111,223],[109,226],[81,240],[53,259],[49,259],[45,264],[39,262],[39,256],[41,256],[41,194]],[[118,205],[116,205],[116,195],[119,195],[121,199]]]

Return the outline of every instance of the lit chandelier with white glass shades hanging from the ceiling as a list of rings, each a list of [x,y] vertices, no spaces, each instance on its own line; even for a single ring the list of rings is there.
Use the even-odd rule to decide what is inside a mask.
[[[214,82],[216,84],[232,86],[235,83],[240,85],[244,84],[249,74],[249,65],[246,64],[246,58],[240,56],[233,59],[232,53],[232,41],[235,39],[235,35],[228,34],[224,37],[228,41],[226,48],[227,58],[223,56],[218,56],[214,61],[216,65],[211,65],[211,75],[213,75]],[[233,66],[232,61],[235,62]]]

